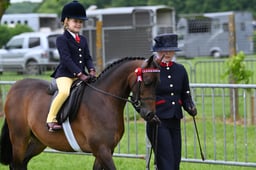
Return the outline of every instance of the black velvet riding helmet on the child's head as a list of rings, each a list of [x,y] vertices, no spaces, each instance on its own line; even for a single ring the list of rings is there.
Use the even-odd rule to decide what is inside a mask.
[[[62,9],[61,21],[64,22],[65,18],[87,20],[83,5],[76,0],[66,4]]]

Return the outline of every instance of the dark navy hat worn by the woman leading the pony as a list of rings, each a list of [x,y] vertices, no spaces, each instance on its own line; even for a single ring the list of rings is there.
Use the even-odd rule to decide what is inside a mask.
[[[180,51],[178,48],[177,34],[160,34],[154,38],[153,52],[158,51]]]

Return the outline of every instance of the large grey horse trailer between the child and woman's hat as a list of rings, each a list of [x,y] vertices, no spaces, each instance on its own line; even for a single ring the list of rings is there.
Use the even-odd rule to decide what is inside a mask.
[[[149,57],[156,35],[175,32],[175,11],[164,5],[88,9],[86,12],[88,21],[82,33],[89,40],[92,56],[99,50],[96,44],[100,36],[104,65],[127,56]],[[102,23],[100,32],[99,22]]]

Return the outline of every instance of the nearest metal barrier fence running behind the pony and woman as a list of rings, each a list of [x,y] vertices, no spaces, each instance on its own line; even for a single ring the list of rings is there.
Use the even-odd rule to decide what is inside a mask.
[[[6,94],[12,83],[0,81],[2,94]],[[256,167],[256,85],[191,84],[191,90],[198,109],[196,122],[206,160],[201,160],[192,118],[184,112],[182,161]],[[234,90],[238,91],[238,115],[230,111],[230,99],[234,97],[230,93]],[[124,119],[125,134],[114,156],[149,161],[151,146],[146,140],[145,122],[130,105],[125,108]]]

